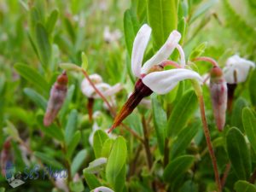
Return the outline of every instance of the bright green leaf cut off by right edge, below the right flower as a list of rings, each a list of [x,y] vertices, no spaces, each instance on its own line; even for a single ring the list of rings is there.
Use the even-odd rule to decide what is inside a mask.
[[[256,118],[252,109],[244,108],[242,110],[242,123],[248,140],[256,151]]]

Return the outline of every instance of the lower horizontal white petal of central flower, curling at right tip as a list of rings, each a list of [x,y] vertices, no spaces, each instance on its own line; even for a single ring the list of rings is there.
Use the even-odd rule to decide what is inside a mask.
[[[202,81],[198,73],[189,69],[178,68],[149,73],[143,78],[143,84],[146,84],[151,90],[158,94],[166,94],[172,90],[179,81],[184,79],[197,79]]]

